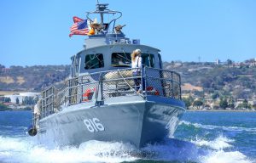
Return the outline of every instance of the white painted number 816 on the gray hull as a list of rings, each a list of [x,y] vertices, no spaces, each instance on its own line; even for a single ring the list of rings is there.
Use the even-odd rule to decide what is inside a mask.
[[[84,125],[87,127],[89,132],[103,132],[105,130],[101,121],[97,118],[85,119]]]

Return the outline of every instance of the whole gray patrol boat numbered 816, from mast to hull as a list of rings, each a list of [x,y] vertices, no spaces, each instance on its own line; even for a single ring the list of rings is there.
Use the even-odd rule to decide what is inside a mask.
[[[75,54],[71,75],[57,87],[41,93],[33,113],[31,136],[40,143],[79,146],[89,140],[123,142],[142,148],[172,137],[185,111],[181,79],[177,72],[163,70],[160,50],[129,39],[117,30],[119,11],[96,4],[102,31],[85,39]],[[105,16],[115,18],[105,21]],[[106,19],[107,20],[107,19]],[[141,49],[143,68],[132,76],[131,53]],[[145,89],[135,90],[135,78]]]

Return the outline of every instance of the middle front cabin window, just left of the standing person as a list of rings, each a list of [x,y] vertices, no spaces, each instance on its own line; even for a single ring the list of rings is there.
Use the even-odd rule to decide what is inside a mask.
[[[131,53],[112,53],[111,65],[113,67],[131,67]]]

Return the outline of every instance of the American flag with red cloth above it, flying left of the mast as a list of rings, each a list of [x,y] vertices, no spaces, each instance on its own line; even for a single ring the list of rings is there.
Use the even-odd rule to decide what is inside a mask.
[[[70,28],[69,37],[73,35],[87,35],[89,32],[87,20],[83,20],[79,17],[73,17],[73,25]]]

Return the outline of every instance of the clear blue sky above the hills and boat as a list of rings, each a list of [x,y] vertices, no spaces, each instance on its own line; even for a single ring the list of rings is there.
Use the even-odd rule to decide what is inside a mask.
[[[254,0],[99,0],[119,10],[126,37],[160,48],[165,61],[256,58]],[[147,2],[147,3],[146,3]],[[73,16],[96,0],[0,1],[0,64],[67,65],[84,38],[68,37]]]

